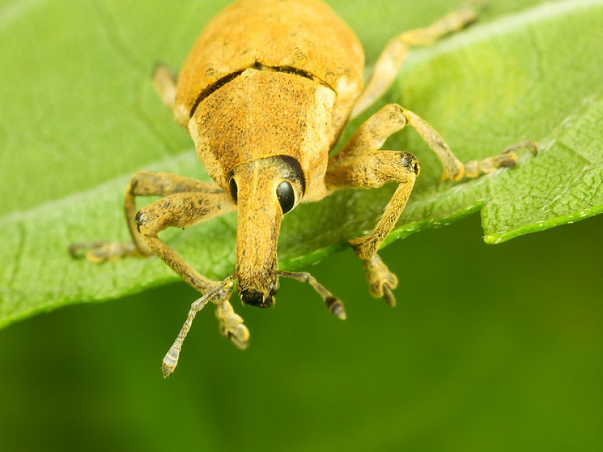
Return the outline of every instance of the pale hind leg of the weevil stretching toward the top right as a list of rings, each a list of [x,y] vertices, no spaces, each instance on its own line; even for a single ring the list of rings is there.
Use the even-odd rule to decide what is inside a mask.
[[[360,115],[387,91],[396,79],[396,74],[406,59],[410,47],[432,45],[440,37],[461,30],[475,22],[478,11],[485,4],[486,1],[469,1],[426,28],[409,30],[394,37],[379,55],[367,86],[354,104],[351,117]]]

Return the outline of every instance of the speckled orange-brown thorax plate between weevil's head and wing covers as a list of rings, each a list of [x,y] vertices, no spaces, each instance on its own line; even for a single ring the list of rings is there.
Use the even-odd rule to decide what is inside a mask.
[[[205,170],[224,190],[236,166],[287,155],[302,166],[309,202],[326,195],[334,102],[335,92],[316,81],[246,69],[197,106],[188,129]]]

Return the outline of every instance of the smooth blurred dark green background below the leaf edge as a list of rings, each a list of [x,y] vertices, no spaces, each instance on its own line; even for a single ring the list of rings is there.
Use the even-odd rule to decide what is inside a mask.
[[[245,352],[197,316],[168,380],[184,284],[11,325],[2,450],[600,451],[602,228],[484,245],[471,216],[398,241],[394,309],[334,255],[309,270],[348,320],[285,280],[274,310],[235,303]]]

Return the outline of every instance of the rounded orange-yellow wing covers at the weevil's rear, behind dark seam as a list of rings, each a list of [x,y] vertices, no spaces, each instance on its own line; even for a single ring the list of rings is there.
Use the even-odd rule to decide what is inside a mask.
[[[348,25],[316,0],[241,0],[219,13],[178,75],[176,121],[186,127],[201,93],[256,62],[301,69],[335,91],[333,144],[362,91],[364,51]]]

